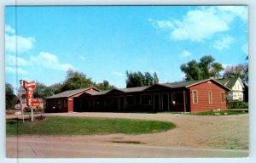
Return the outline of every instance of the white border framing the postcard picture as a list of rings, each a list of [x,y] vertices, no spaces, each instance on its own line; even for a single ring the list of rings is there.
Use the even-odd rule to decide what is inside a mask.
[[[4,2],[3,2],[4,1]],[[239,5],[239,4],[246,4],[249,7],[249,158],[224,158],[224,159],[218,159],[218,158],[210,158],[210,159],[47,159],[47,160],[40,160],[40,159],[19,159],[17,161],[16,159],[6,159],[5,157],[5,77],[4,77],[4,7],[7,5]],[[148,162],[148,163],[155,163],[155,162],[197,162],[197,163],[205,163],[205,162],[220,162],[220,163],[226,163],[226,162],[242,162],[242,163],[253,163],[256,162],[256,143],[255,143],[255,120],[253,120],[256,117],[256,100],[253,100],[255,98],[255,84],[256,78],[255,75],[253,76],[253,71],[255,72],[256,64],[253,61],[255,61],[255,53],[256,53],[256,46],[255,46],[255,40],[256,40],[256,3],[253,0],[222,0],[222,1],[210,1],[210,0],[1,0],[0,1],[0,106],[1,106],[1,112],[0,112],[0,128],[1,128],[1,134],[0,134],[0,162]],[[254,31],[253,31],[254,29]],[[253,46],[254,44],[254,46]],[[254,55],[253,55],[254,54]]]

